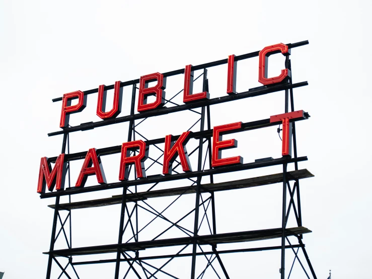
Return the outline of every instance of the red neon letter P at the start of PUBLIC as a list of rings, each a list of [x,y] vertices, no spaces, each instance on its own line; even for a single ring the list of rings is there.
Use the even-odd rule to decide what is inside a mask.
[[[78,99],[78,104],[71,106],[71,100]],[[62,97],[62,112],[59,127],[68,126],[69,115],[71,113],[81,112],[87,106],[87,96],[82,91],[74,91],[63,94]]]

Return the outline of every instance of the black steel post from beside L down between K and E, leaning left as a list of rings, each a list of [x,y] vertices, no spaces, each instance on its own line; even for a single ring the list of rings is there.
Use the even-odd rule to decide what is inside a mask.
[[[207,69],[204,69],[203,73],[203,91],[207,90]],[[205,119],[205,106],[201,108],[200,116],[200,131],[204,130],[204,119]],[[201,171],[203,160],[203,138],[199,139],[199,152],[198,152],[198,171]],[[196,198],[195,198],[195,219],[194,219],[194,237],[198,234],[199,225],[199,203],[200,203],[200,184],[201,176],[197,177],[196,182]],[[195,279],[195,267],[196,267],[196,240],[192,244],[192,260],[191,260],[191,279]]]

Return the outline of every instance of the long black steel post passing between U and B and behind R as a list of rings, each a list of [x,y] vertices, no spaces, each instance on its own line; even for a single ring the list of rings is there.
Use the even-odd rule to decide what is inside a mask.
[[[132,87],[132,99],[130,104],[130,115],[134,115],[134,105],[135,105],[135,92],[136,92],[136,84],[133,84]],[[128,142],[132,140],[133,134],[133,125],[134,121],[129,121],[129,129],[128,129]],[[123,187],[123,195],[121,198],[121,211],[120,211],[120,224],[119,224],[119,237],[118,237],[118,244],[123,242],[123,229],[124,229],[124,217],[125,217],[125,207],[126,207],[126,192],[127,187]],[[128,217],[129,218],[129,217]],[[115,279],[119,278],[119,270],[120,270],[120,249],[118,249],[116,254],[116,266],[115,266]]]

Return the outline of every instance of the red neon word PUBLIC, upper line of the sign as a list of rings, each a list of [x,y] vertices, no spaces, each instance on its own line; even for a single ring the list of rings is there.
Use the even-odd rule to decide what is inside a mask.
[[[271,54],[281,52],[283,55],[289,55],[290,49],[282,43],[264,47],[259,52],[259,78],[258,81],[265,86],[281,83],[290,77],[289,69],[282,69],[281,74],[277,77],[268,78],[268,57]],[[227,75],[227,94],[236,94],[236,79],[237,79],[237,61],[235,55],[229,55],[228,58],[228,75]],[[185,66],[184,78],[184,92],[183,102],[195,102],[199,100],[209,99],[209,92],[204,91],[193,94],[193,77],[194,72],[191,71],[192,65]],[[138,112],[154,110],[161,108],[165,103],[165,88],[167,79],[160,73],[145,75],[139,79],[139,92],[138,92]],[[157,82],[153,87],[148,87],[148,83]],[[155,96],[155,101],[152,103],[147,102],[147,98]],[[71,106],[72,99],[79,99],[77,105]],[[120,82],[115,82],[114,85],[114,101],[112,109],[108,112],[104,111],[106,106],[106,91],[104,85],[98,88],[98,102],[97,102],[97,115],[102,119],[116,118],[121,111],[122,103],[122,87]],[[69,114],[82,111],[86,106],[86,95],[82,91],[75,91],[63,95],[62,98],[62,111],[60,118],[60,127],[67,127]]]

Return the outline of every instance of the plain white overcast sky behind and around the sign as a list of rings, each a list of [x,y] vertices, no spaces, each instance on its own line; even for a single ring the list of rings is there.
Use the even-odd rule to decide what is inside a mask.
[[[313,231],[304,235],[304,243],[318,278],[327,278],[329,269],[335,278],[370,278],[370,8],[368,1],[2,1],[0,271],[5,271],[4,278],[45,276],[47,256],[42,252],[49,248],[53,217],[47,205],[54,203],[54,198],[40,200],[36,186],[40,158],[60,153],[62,137],[47,136],[59,129],[61,103],[52,103],[52,98],[279,42],[303,40],[309,40],[310,45],[293,49],[291,60],[293,82],[309,81],[308,87],[294,90],[295,109],[309,111],[312,116],[297,125],[299,156],[309,158],[300,168],[315,174],[315,178],[300,182],[303,225]],[[272,57],[270,71],[275,74],[282,68],[283,57]],[[259,86],[257,75],[257,57],[238,63],[238,92]],[[226,65],[211,68],[208,78],[211,98],[224,96]],[[167,96],[182,87],[183,76],[169,79]],[[195,90],[198,88],[201,85],[196,83]],[[130,89],[125,90],[127,96]],[[282,97],[282,93],[273,93],[212,107],[212,125],[283,113]],[[128,102],[126,98],[124,102]],[[90,95],[87,108],[70,117],[71,125],[98,121],[96,102],[97,94]],[[123,109],[121,115],[125,114]],[[158,117],[141,131],[151,138],[181,133],[196,120],[194,115],[185,119],[187,115],[190,113]],[[118,124],[75,132],[71,134],[71,152],[120,145],[126,141],[126,127]],[[224,153],[227,156],[240,154],[245,163],[280,157],[276,127],[234,134],[234,138],[239,140],[238,149]],[[119,157],[109,157],[103,159],[104,168],[108,181],[114,182]],[[72,183],[82,161],[74,163]],[[217,180],[277,172],[280,167]],[[91,177],[88,183],[97,182]],[[230,192],[216,194],[218,233],[280,227],[279,184]],[[73,196],[72,200],[117,193],[120,190],[101,191]],[[168,216],[173,217],[186,205],[191,208],[193,202],[190,195]],[[156,206],[164,207],[161,202]],[[117,205],[73,211],[73,247],[116,243],[119,212]],[[290,226],[295,226],[293,220]],[[265,245],[249,245],[260,244]],[[58,245],[56,248],[63,248],[62,242]],[[232,278],[280,276],[279,251],[222,259]],[[288,250],[286,271],[292,259]],[[175,261],[169,270],[187,278],[190,263],[191,258]],[[113,271],[114,265],[78,269],[81,278],[110,278]],[[293,277],[305,278],[298,262],[293,272]],[[214,278],[212,272],[205,277]]]

